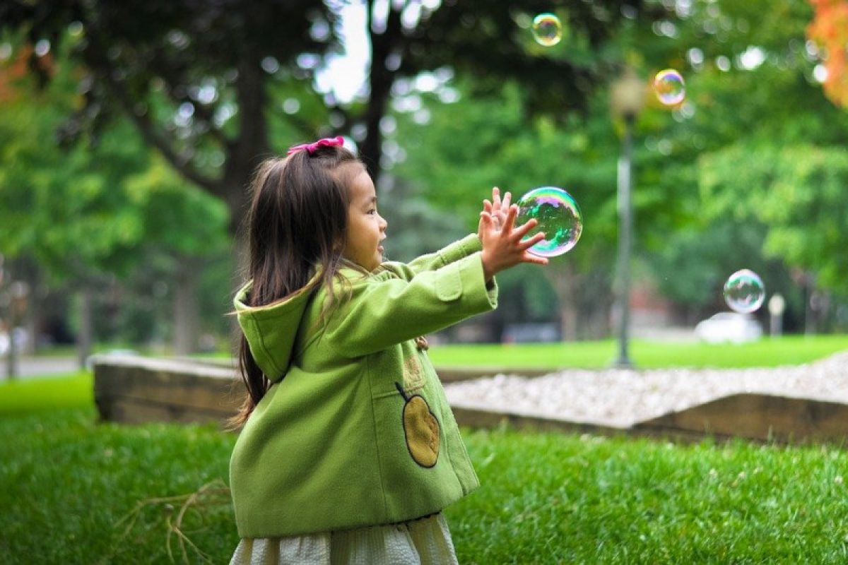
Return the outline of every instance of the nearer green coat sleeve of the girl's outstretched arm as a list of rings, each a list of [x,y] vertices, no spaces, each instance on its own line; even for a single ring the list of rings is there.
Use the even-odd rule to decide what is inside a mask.
[[[410,280],[385,272],[354,284],[349,300],[328,321],[324,339],[344,357],[360,357],[497,306],[497,285],[493,281],[487,288],[475,252]]]

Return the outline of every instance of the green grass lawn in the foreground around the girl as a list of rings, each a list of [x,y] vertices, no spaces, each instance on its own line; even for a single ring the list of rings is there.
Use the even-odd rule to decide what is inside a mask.
[[[185,499],[126,517],[226,481],[234,435],[95,418],[91,407],[0,417],[0,562],[169,562],[168,523]],[[445,512],[462,563],[848,560],[848,454],[834,446],[464,437],[483,485]],[[227,562],[237,533],[226,490],[190,508],[181,532]]]

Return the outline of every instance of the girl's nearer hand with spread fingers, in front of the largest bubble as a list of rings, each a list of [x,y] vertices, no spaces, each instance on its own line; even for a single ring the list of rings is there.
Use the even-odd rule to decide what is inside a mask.
[[[501,202],[501,208],[503,203]],[[526,241],[522,237],[533,230],[538,224],[536,219],[531,219],[519,227],[515,227],[518,206],[512,204],[507,208],[504,223],[498,227],[495,223],[493,213],[483,210],[480,213],[480,224],[477,233],[483,243],[483,274],[486,282],[492,280],[494,274],[499,273],[518,263],[535,263],[537,265],[548,264],[548,259],[537,257],[527,249],[544,240],[544,233],[538,233]]]

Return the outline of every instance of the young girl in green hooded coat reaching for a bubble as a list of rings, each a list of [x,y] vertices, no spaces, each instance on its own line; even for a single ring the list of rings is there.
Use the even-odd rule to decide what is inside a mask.
[[[383,262],[386,220],[341,137],[260,167],[234,299],[233,563],[456,562],[441,511],[477,475],[421,336],[494,309],[499,271],[547,263],[509,193],[483,207],[477,235]]]

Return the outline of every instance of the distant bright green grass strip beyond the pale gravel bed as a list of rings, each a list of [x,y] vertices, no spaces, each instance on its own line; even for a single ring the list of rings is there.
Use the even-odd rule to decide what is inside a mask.
[[[777,367],[808,363],[848,350],[848,335],[790,335],[741,345],[700,342],[633,341],[630,357],[638,368]],[[436,367],[606,368],[617,354],[616,341],[501,345],[443,345],[428,351]]]

